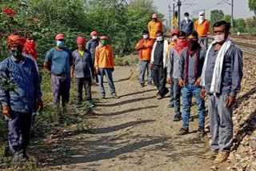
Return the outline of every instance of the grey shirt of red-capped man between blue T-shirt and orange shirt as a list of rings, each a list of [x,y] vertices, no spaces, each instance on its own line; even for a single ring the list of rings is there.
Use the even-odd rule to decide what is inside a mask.
[[[90,71],[94,72],[94,66],[91,61],[90,52],[85,50],[83,55],[79,54],[78,50],[74,50],[73,68],[76,78],[91,78]]]

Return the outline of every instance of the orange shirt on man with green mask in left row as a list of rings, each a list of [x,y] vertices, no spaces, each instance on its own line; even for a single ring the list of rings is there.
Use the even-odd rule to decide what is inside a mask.
[[[114,54],[111,46],[98,46],[96,48],[94,67],[96,69],[114,68]]]

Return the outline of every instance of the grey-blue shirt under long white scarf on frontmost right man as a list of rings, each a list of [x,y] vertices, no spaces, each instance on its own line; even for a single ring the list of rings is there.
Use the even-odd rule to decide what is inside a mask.
[[[209,58],[206,66],[205,76],[205,89],[207,93],[210,93],[210,85],[214,74],[215,61],[218,56],[218,51],[214,51],[215,45],[212,46],[209,52]],[[226,51],[223,66],[222,66],[222,83],[221,93],[227,93],[232,97],[241,89],[242,81],[242,50],[231,44],[230,49]]]

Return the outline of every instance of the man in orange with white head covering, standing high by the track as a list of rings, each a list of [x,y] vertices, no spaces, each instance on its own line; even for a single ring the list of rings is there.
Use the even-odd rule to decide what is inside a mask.
[[[205,13],[200,12],[198,21],[194,23],[194,30],[198,32],[198,42],[203,48],[208,48],[208,31],[210,30],[210,22],[206,20]]]

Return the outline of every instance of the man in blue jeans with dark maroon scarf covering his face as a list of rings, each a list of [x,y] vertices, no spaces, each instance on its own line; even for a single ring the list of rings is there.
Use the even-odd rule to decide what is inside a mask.
[[[190,108],[192,105],[192,97],[194,96],[197,101],[199,115],[198,136],[202,137],[205,133],[205,101],[200,96],[200,77],[203,62],[206,57],[206,49],[201,48],[198,43],[198,33],[195,31],[188,35],[188,41],[188,47],[182,51],[179,60],[178,80],[183,90],[183,126],[178,135],[189,133]]]

